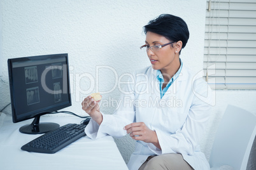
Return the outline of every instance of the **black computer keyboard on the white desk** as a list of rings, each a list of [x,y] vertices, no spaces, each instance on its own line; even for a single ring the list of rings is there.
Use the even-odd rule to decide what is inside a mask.
[[[85,124],[66,124],[58,129],[39,136],[22,146],[22,150],[54,154],[70,143],[85,136]]]

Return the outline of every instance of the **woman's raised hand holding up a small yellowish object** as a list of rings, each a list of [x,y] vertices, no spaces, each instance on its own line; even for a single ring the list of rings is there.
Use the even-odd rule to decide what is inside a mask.
[[[92,96],[87,96],[87,98],[82,101],[82,109],[85,110],[85,112],[87,112],[87,114],[89,114],[97,124],[101,125],[103,115],[99,111],[99,101],[100,100],[94,101]]]

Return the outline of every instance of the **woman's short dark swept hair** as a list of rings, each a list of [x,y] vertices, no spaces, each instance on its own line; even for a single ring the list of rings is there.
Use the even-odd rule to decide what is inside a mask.
[[[182,48],[186,46],[189,38],[187,23],[182,18],[170,14],[159,15],[143,29],[145,34],[149,31],[164,36],[169,41],[182,41]]]

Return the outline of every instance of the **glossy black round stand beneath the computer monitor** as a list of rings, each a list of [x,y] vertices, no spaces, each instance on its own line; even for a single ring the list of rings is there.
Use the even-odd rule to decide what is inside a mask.
[[[53,131],[59,128],[59,124],[51,122],[42,122],[39,123],[40,115],[34,118],[34,121],[31,124],[20,127],[21,133],[26,134],[41,134],[48,131]]]

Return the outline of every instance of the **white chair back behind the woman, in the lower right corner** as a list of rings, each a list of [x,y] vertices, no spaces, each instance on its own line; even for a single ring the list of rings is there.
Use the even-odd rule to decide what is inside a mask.
[[[256,116],[228,105],[211,150],[211,169],[228,165],[245,170],[255,134]]]

